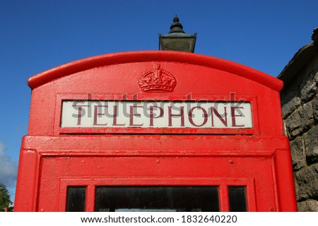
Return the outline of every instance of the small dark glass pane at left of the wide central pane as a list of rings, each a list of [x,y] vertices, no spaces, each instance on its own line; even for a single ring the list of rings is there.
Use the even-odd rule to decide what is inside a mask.
[[[67,188],[67,212],[84,212],[86,203],[86,187]]]

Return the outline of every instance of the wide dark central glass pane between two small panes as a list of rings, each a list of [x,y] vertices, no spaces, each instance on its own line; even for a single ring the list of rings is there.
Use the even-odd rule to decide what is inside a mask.
[[[95,211],[219,211],[218,187],[97,187]]]

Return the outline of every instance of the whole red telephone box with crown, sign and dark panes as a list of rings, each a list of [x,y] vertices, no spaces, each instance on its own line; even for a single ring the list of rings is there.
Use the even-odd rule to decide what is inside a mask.
[[[276,78],[136,51],[28,84],[15,211],[297,211]]]

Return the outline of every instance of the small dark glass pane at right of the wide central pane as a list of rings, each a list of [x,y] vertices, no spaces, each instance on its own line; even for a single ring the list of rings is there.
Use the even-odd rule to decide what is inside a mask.
[[[228,199],[231,212],[246,212],[246,187],[228,187]]]

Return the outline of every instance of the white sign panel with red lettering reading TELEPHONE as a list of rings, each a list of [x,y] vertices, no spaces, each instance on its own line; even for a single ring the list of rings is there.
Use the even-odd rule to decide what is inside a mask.
[[[252,128],[249,102],[63,101],[61,127]]]

